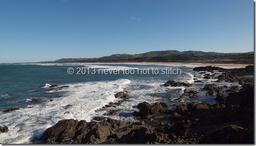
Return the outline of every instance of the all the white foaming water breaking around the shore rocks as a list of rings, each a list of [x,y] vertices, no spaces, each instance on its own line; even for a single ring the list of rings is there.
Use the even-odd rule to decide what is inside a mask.
[[[99,64],[87,64],[86,66],[90,68],[94,67],[121,70],[124,68],[122,65],[106,66]],[[191,67],[191,65],[187,66]],[[159,69],[161,67],[162,66],[159,66]],[[234,66],[221,67],[234,68]],[[127,66],[125,68],[135,69],[128,68]],[[183,72],[183,74],[185,74],[185,76],[176,76],[177,78],[175,78],[175,81],[186,83],[194,82],[194,76],[192,74],[189,72]],[[198,80],[203,79],[198,78]],[[208,80],[208,83],[214,81],[215,79]],[[7,113],[2,112],[0,125],[8,126],[9,132],[0,134],[0,143],[31,143],[31,139],[34,137],[40,137],[48,127],[55,125],[59,120],[72,118],[90,121],[95,116],[102,116],[107,111],[101,107],[109,102],[117,102],[120,100],[116,99],[114,95],[123,90],[127,90],[129,92],[130,101],[123,102],[121,106],[118,106],[116,109],[119,111],[119,114],[112,116],[111,118],[133,120],[132,114],[130,113],[138,110],[136,109],[136,105],[138,105],[140,102],[146,101],[149,103],[154,103],[156,101],[173,101],[175,97],[183,93],[183,90],[185,89],[185,87],[163,87],[164,82],[166,82],[166,80],[151,80],[151,78],[149,78],[148,80],[143,80],[143,82],[141,82],[141,80],[118,79],[115,81],[63,84],[62,86],[69,86],[69,88],[63,88],[61,92],[65,91],[65,94],[60,98],[54,98],[52,102],[47,100],[43,102],[43,104],[33,105],[32,108],[22,108],[18,111]],[[198,84],[200,85],[200,83]],[[218,84],[222,85],[222,83]],[[227,85],[226,83],[223,84]],[[230,83],[228,86],[232,86],[234,84],[235,83]],[[50,84],[46,83],[42,88],[49,87]],[[191,88],[193,89],[195,87]],[[170,92],[173,92],[173,94],[170,94]],[[47,93],[45,92],[45,94]],[[8,94],[1,95],[1,98],[8,97]],[[206,100],[209,100],[209,97],[207,97]],[[182,102],[188,101],[189,99],[184,99]],[[26,99],[24,102],[31,102],[31,99]],[[70,108],[65,108],[67,105],[72,106]]]

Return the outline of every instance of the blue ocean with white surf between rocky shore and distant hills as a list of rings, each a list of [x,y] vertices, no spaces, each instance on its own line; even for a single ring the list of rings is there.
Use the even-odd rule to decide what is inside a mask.
[[[0,65],[0,126],[9,131],[0,133],[0,143],[32,143],[34,138],[59,120],[90,121],[105,116],[123,121],[134,121],[133,112],[143,101],[153,104],[165,102],[169,109],[179,104],[208,101],[202,88],[216,78],[205,80],[192,71],[202,65],[156,64],[9,64]],[[222,66],[223,67],[223,66]],[[224,68],[240,68],[225,66]],[[70,69],[71,68],[71,69]],[[72,72],[73,71],[73,72]],[[212,72],[209,72],[212,74]],[[202,83],[195,83],[202,80]],[[168,80],[193,83],[192,87],[164,87]],[[50,86],[58,84],[59,90]],[[217,83],[228,87],[237,83]],[[196,98],[180,98],[184,89],[196,90]],[[129,99],[117,106],[116,115],[103,115],[109,102],[117,102],[115,94],[126,90]],[[70,105],[70,106],[68,106]],[[19,110],[2,112],[19,107]]]

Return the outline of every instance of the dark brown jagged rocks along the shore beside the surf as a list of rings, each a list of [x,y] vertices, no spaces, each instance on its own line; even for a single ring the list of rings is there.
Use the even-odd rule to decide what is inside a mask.
[[[206,84],[202,90],[216,96],[217,103],[190,102],[168,109],[167,104],[156,102],[138,104],[139,112],[134,112],[138,122],[124,122],[105,117],[95,117],[92,121],[66,119],[58,121],[48,128],[35,143],[202,143],[202,144],[253,144],[254,143],[254,66],[242,69],[223,69],[206,66],[194,68],[194,71],[214,72],[217,82],[238,82],[242,87],[218,87]],[[203,72],[207,78],[211,74]],[[251,77],[249,77],[251,76]],[[168,81],[164,86],[186,86],[181,82]],[[197,92],[184,92],[196,97]],[[128,99],[127,92],[115,95],[120,102],[110,103],[118,106]]]

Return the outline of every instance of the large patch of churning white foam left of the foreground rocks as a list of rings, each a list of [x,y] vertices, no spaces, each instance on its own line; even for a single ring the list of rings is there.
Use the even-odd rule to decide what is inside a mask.
[[[127,79],[119,79],[68,84],[70,87],[65,89],[66,93],[61,98],[3,113],[0,125],[8,126],[9,132],[1,133],[0,143],[30,143],[32,137],[40,137],[48,127],[63,119],[90,121],[97,115],[96,109],[115,101],[115,94],[123,91],[129,83]],[[25,101],[30,102],[31,99]],[[72,106],[65,108],[66,105]]]

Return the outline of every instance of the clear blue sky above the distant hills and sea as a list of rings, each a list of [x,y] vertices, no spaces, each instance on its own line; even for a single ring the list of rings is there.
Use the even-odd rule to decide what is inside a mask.
[[[254,50],[253,0],[1,0],[0,63]]]

